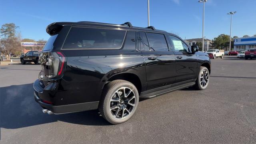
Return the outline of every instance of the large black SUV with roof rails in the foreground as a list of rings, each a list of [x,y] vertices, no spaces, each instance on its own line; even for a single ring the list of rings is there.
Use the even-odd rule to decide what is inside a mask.
[[[209,84],[208,54],[153,26],[55,22],[46,32],[51,37],[33,85],[44,113],[98,109],[119,124],[132,117],[139,98]]]

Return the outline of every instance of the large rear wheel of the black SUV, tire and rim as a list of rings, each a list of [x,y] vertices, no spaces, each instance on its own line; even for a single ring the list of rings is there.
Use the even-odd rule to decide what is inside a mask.
[[[121,124],[133,116],[138,103],[139,93],[132,83],[114,80],[104,87],[98,109],[111,124]]]

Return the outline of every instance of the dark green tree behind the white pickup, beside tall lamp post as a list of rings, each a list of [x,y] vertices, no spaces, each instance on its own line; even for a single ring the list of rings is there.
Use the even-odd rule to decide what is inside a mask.
[[[223,49],[226,47],[227,50],[227,46],[229,46],[229,41],[230,41],[230,36],[226,35],[226,34],[220,34],[217,38],[214,38],[212,40],[212,45],[216,48],[220,48]]]

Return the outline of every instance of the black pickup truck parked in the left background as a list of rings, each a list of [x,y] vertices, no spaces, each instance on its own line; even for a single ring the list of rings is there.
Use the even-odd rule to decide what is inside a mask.
[[[20,56],[21,64],[26,64],[26,62],[34,62],[38,64],[39,52],[38,51],[28,51],[26,54]]]

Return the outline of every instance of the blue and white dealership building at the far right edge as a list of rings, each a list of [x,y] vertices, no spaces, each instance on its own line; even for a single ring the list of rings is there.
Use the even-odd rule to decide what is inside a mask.
[[[234,50],[250,50],[256,48],[256,36],[247,38],[234,38]]]

